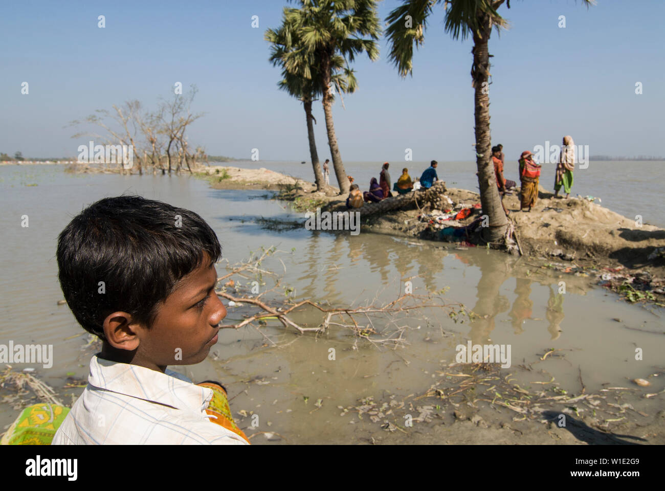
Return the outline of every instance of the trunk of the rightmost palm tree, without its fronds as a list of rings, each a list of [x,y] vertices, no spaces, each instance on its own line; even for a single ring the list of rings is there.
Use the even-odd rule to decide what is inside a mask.
[[[501,196],[496,184],[494,166],[491,162],[491,137],[489,133],[489,50],[491,33],[489,18],[478,13],[481,36],[473,34],[473,86],[475,87],[475,164],[478,169],[480,202],[483,214],[489,217],[489,228],[483,229],[487,242],[497,242],[503,238],[508,220],[501,206]],[[483,83],[485,82],[485,83]]]

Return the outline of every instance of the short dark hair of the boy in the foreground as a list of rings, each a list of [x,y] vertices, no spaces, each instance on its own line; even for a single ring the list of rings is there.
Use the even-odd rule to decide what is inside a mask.
[[[221,256],[215,232],[198,214],[141,196],[104,198],[59,235],[58,277],[78,323],[105,339],[104,319],[114,311],[150,327],[204,251],[213,263]]]

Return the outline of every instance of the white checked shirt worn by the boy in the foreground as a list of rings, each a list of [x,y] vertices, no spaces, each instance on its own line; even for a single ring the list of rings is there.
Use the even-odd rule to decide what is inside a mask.
[[[88,385],[52,444],[247,444],[209,420],[212,395],[174,371],[93,356]]]

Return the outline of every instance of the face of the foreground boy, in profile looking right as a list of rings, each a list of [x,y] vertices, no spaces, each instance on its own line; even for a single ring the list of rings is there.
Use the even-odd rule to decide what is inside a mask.
[[[138,346],[132,364],[164,371],[167,365],[194,365],[217,343],[226,309],[215,294],[217,270],[207,253],[197,269],[180,280],[162,304],[150,329],[134,329]]]

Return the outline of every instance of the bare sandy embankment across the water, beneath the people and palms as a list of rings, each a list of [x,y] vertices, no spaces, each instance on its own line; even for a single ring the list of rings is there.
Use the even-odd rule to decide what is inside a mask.
[[[223,173],[229,178],[214,181]],[[291,192],[291,199],[311,200],[327,210],[346,210],[346,196],[338,196],[338,188],[330,186],[326,192],[316,192],[315,184],[285,176],[265,168],[241,169],[215,166],[206,169],[211,182],[218,189],[268,189],[280,190],[299,186]],[[450,208],[473,206],[480,202],[479,194],[468,190],[450,188],[446,196],[452,200]],[[665,230],[644,224],[638,226],[634,219],[621,216],[607,208],[581,198],[555,199],[553,194],[540,188],[539,199],[531,212],[519,211],[519,194],[505,196],[503,203],[515,224],[521,249],[525,255],[548,261],[568,261],[576,267],[640,268],[662,277],[665,275],[665,258],[658,254],[665,247]],[[365,204],[365,207],[374,206]],[[362,230],[397,236],[431,238],[436,232],[431,224],[418,220],[422,213],[432,210],[416,206],[407,210],[394,210],[380,216],[362,218]],[[464,226],[477,218],[479,210],[460,222],[448,222],[444,226]],[[428,230],[429,229],[429,230]],[[649,259],[649,256],[656,257]],[[663,249],[665,251],[665,249]],[[626,273],[627,271],[623,271]],[[623,273],[608,273],[620,277]],[[656,285],[657,287],[658,285]]]

